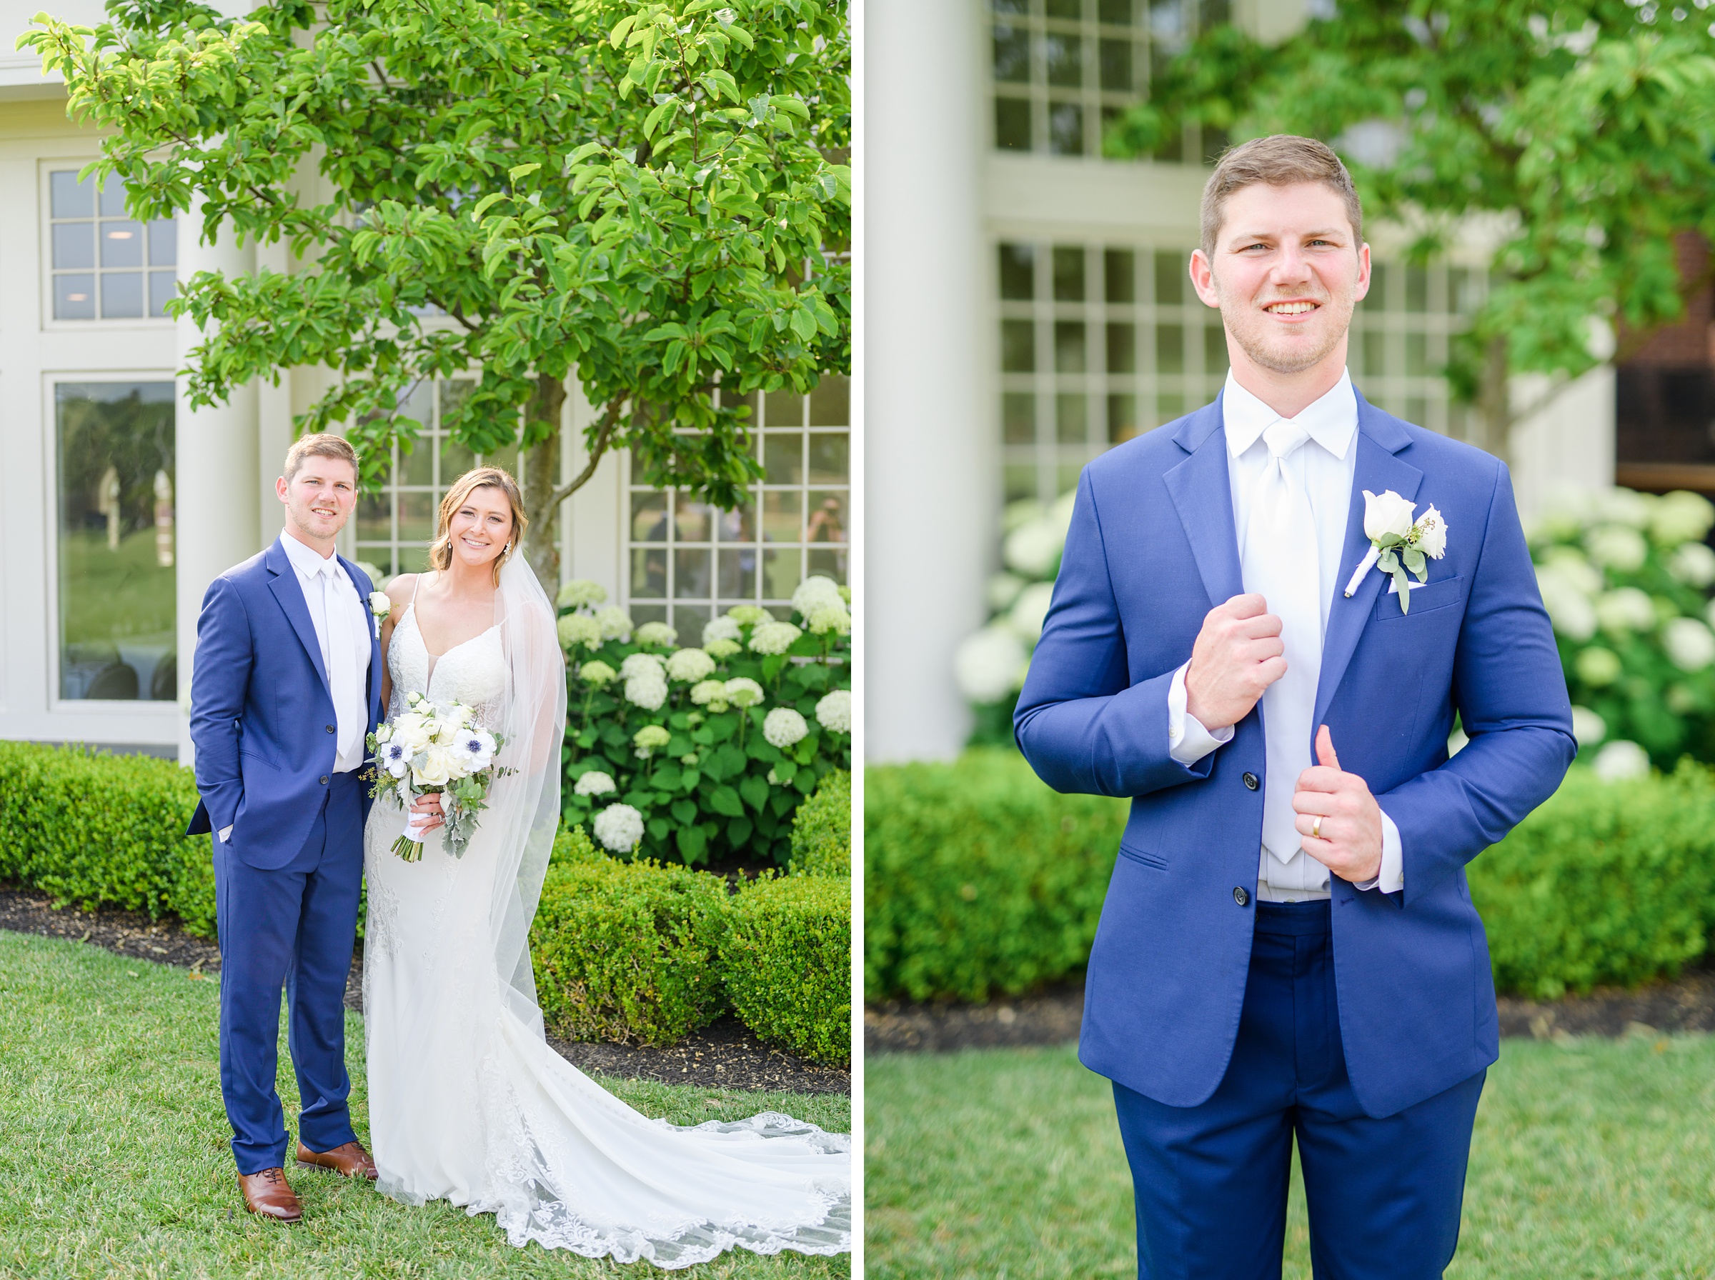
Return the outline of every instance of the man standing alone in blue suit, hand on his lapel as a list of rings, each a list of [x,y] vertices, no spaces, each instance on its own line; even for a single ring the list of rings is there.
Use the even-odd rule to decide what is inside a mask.
[[[1051,787],[1132,800],[1079,1056],[1140,1277],[1278,1277],[1297,1141],[1317,1277],[1429,1280],[1499,1056],[1465,864],[1561,783],[1566,682],[1506,466],[1346,375],[1334,153],[1228,153],[1190,276],[1226,387],[1084,470],[1015,718]]]

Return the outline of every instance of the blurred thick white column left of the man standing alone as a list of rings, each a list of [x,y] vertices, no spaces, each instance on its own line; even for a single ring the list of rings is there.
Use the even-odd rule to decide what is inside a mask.
[[[873,761],[969,733],[954,649],[983,624],[998,540],[984,353],[983,17],[864,5],[864,735]]]

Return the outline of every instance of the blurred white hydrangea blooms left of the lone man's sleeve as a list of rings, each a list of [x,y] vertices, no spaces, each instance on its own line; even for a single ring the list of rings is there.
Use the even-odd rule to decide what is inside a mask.
[[[1074,492],[1055,502],[1012,502],[1002,514],[1003,569],[988,579],[990,619],[954,656],[959,689],[971,699],[972,745],[1010,745],[1012,709],[1043,634],[1060,553],[1072,526]]]

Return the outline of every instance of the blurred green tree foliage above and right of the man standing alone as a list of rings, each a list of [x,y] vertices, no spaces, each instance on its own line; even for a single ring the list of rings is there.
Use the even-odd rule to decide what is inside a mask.
[[[1506,454],[1513,374],[1550,392],[1624,360],[1684,295],[1674,236],[1715,233],[1715,26],[1708,0],[1341,0],[1278,46],[1207,31],[1111,127],[1111,154],[1156,151],[1187,120],[1334,146],[1365,211],[1423,259],[1492,230],[1492,288],[1447,375],[1478,444]]]

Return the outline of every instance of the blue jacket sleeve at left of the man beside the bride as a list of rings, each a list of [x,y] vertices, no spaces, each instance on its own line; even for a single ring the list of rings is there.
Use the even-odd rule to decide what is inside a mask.
[[[254,663],[250,620],[238,588],[216,577],[202,596],[197,653],[190,670],[190,742],[197,752],[197,792],[216,831],[232,826],[244,799],[238,716],[244,715]]]

